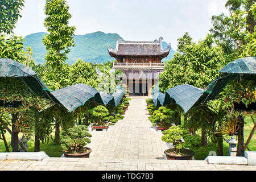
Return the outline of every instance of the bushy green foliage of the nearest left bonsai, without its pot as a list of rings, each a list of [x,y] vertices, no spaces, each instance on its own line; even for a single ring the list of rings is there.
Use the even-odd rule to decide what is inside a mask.
[[[61,133],[61,135],[63,137],[60,140],[60,147],[69,153],[84,152],[84,146],[90,143],[90,139],[87,137],[92,137],[85,125],[73,126]]]

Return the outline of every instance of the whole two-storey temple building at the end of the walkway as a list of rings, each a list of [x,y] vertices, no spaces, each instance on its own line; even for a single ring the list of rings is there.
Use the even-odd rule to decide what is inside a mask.
[[[153,42],[127,42],[117,40],[114,48],[107,46],[109,55],[117,60],[113,69],[124,73],[123,83],[127,85],[130,96],[148,96],[152,85],[158,82],[159,73],[163,72],[164,63],[171,46],[162,49],[162,37]]]

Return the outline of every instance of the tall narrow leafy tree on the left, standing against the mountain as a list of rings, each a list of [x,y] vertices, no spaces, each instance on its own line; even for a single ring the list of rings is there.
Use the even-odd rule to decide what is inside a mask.
[[[51,89],[60,89],[67,86],[67,54],[71,46],[75,46],[73,36],[75,26],[69,26],[69,6],[64,0],[47,0],[44,8],[46,19],[44,26],[49,34],[44,36],[43,44],[46,46],[46,64],[51,66],[51,74],[46,77],[51,82]],[[60,112],[59,112],[60,113]],[[56,117],[59,118],[59,117]],[[55,142],[60,139],[60,121],[56,120]]]

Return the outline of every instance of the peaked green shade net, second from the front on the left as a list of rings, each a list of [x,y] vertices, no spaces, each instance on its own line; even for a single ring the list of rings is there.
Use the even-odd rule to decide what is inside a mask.
[[[51,94],[59,100],[69,112],[72,112],[87,101],[104,104],[98,90],[85,84],[75,84],[52,91]]]

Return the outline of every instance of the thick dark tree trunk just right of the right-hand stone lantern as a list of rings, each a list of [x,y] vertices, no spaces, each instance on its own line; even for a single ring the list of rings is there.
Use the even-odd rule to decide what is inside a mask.
[[[243,125],[245,121],[243,120],[242,115],[238,116],[238,126],[237,131],[237,156],[243,156]]]

